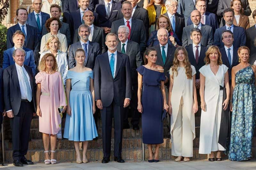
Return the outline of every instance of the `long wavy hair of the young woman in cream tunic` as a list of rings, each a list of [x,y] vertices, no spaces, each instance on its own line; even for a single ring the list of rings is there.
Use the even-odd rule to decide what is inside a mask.
[[[188,52],[187,50],[184,48],[184,47],[178,47],[176,48],[175,50],[175,53],[174,53],[174,59],[173,59],[173,66],[171,67],[172,69],[172,72],[173,72],[173,76],[174,74],[176,75],[176,77],[178,76],[178,66],[179,66],[179,60],[178,60],[178,52],[182,50],[184,52],[184,55],[185,55],[185,60],[184,60],[184,63],[185,63],[185,73],[186,73],[186,76],[188,79],[192,79],[192,68],[191,68],[191,64],[189,62],[189,59],[188,59]]]

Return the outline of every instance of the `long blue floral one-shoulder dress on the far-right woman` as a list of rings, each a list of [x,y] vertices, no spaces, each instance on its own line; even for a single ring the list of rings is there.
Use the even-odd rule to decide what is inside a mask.
[[[256,122],[255,77],[252,67],[248,66],[239,70],[235,80],[228,159],[241,161],[251,157],[252,137]]]

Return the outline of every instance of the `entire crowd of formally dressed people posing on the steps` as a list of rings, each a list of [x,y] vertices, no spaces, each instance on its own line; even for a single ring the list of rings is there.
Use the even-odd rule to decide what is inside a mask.
[[[10,119],[15,166],[33,164],[25,157],[33,115],[45,164],[56,164],[62,137],[74,141],[76,162],[87,163],[99,113],[102,163],[110,161],[112,119],[114,160],[124,162],[129,113],[132,128],[142,128],[148,162],[159,162],[166,115],[175,161],[190,161],[195,114],[200,154],[251,159],[256,25],[248,0],[32,0],[32,7],[17,9],[0,69],[0,112]]]

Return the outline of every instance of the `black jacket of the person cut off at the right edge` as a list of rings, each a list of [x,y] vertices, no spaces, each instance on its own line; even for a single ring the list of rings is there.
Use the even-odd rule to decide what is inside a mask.
[[[256,47],[254,40],[256,38],[256,27],[255,25],[248,28],[246,31],[246,46],[250,49],[250,54],[256,53]]]

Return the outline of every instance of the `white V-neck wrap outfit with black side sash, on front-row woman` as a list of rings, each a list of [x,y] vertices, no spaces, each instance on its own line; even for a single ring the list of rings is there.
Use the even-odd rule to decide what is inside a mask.
[[[204,100],[206,112],[201,112],[199,153],[209,154],[212,151],[225,151],[218,143],[222,111],[223,90],[225,73],[228,67],[219,66],[216,75],[212,72],[210,64],[204,65],[199,72],[205,77]]]

